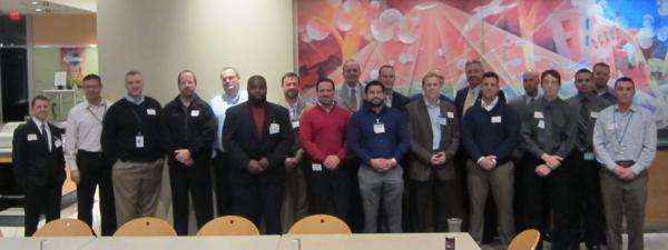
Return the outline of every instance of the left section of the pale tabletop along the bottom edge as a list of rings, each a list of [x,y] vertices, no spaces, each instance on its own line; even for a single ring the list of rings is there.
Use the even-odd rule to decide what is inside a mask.
[[[0,249],[26,250],[274,250],[281,236],[0,238]],[[41,249],[40,249],[41,244]]]

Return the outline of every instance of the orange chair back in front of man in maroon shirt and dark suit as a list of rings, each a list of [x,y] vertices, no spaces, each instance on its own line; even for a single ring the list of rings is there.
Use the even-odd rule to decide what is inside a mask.
[[[259,230],[246,218],[225,216],[204,224],[197,236],[259,236]]]

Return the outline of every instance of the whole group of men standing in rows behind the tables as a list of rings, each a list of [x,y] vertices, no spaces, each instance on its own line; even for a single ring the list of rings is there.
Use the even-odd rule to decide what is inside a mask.
[[[436,71],[409,99],[393,90],[392,66],[364,84],[360,63],[348,60],[338,89],[331,79],[317,80],[314,104],[299,98],[298,76],[286,73],[284,99],[275,104],[266,100],[264,77],[250,77],[242,90],[230,67],[220,73],[223,93],[207,103],[195,93],[195,73],[185,70],[179,94],[164,108],[143,93],[137,71],[126,74],[127,96],[114,104],[100,98],[99,77],[87,76],[87,102],[72,108],[65,131],[79,219],[91,224],[96,184],[102,234],[153,216],[167,154],[178,234],[188,233],[188,196],[199,228],[214,217],[215,193],[218,214],[264,221],[266,233],[313,213],[355,224],[360,202],[364,232],[445,231],[448,218],[465,218],[464,228],[481,242],[491,192],[503,244],[517,229],[536,228],[551,229],[553,249],[569,249],[583,229],[590,249],[606,240],[608,249],[620,249],[623,213],[631,249],[642,248],[646,169],[657,138],[649,111],[632,104],[631,79],[618,79],[612,94],[609,67],[598,63],[593,73],[576,73],[578,94],[562,100],[558,71],[527,72],[525,94],[507,103],[497,73],[478,60],[464,72],[468,87],[454,101],[441,94],[444,79]],[[14,133],[26,236],[47,203],[41,197],[56,200],[51,192],[65,177],[62,131],[39,129],[48,123],[48,106],[37,97],[33,118]],[[57,218],[51,206],[47,220]]]

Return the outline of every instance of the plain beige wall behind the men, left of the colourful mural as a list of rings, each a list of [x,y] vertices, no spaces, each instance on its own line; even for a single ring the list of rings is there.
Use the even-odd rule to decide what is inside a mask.
[[[233,66],[243,89],[250,76],[264,76],[275,101],[281,77],[294,69],[292,0],[98,1],[97,30],[110,100],[125,94],[125,72],[138,70],[145,94],[165,104],[184,69],[195,71],[197,92],[209,100],[222,92],[220,69]]]

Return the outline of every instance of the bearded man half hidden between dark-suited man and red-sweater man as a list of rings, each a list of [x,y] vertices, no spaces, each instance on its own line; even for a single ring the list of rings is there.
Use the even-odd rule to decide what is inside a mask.
[[[306,180],[303,166],[304,150],[299,144],[298,131],[302,113],[312,107],[299,98],[299,76],[293,72],[281,78],[283,99],[278,104],[289,111],[289,122],[295,130],[295,139],[285,157],[285,196],[283,197],[283,229],[288,229],[295,221],[308,214],[306,206]]]

